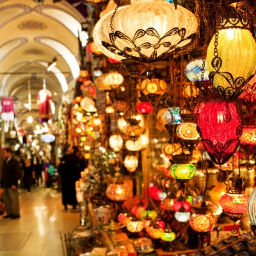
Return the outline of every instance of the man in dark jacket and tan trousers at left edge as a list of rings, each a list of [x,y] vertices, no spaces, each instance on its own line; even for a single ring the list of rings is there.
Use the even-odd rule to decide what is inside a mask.
[[[21,170],[19,162],[13,158],[12,150],[6,148],[4,151],[5,161],[1,178],[1,187],[4,189],[3,200],[6,209],[6,216],[3,218],[20,218],[19,209],[19,188]]]

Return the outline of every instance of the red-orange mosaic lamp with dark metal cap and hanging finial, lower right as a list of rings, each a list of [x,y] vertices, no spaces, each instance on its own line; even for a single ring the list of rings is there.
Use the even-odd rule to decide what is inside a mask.
[[[241,184],[241,186],[237,186]],[[235,189],[228,189],[227,193],[220,198],[220,205],[227,213],[230,220],[234,221],[232,234],[237,234],[236,221],[243,217],[244,212],[248,211],[249,196],[244,195],[244,188],[242,187],[243,179],[237,178]],[[241,189],[242,188],[242,189]]]

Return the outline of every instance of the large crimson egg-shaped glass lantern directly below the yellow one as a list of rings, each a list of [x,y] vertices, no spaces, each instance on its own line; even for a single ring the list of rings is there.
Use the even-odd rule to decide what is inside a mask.
[[[212,161],[225,164],[236,152],[241,117],[232,102],[207,102],[198,118],[198,133]]]

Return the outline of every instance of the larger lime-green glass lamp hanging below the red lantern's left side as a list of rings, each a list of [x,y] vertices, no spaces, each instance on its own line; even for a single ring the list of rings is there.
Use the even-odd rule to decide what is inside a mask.
[[[170,173],[178,181],[189,180],[196,174],[196,167],[194,164],[173,164]]]

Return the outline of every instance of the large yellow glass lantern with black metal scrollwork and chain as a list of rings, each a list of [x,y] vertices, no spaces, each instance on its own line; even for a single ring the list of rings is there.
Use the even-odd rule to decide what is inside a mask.
[[[243,87],[252,79],[256,44],[246,12],[228,6],[220,15],[218,40],[214,35],[207,49],[206,61],[211,83],[221,99],[231,101],[239,97]]]

